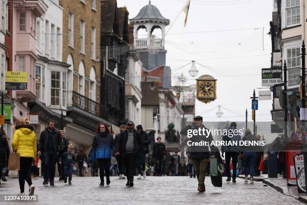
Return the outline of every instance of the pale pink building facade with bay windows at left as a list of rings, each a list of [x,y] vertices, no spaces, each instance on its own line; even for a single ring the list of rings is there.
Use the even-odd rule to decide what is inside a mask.
[[[13,91],[14,125],[24,117],[29,117],[27,101],[35,99],[35,66],[39,59],[36,54],[36,18],[44,15],[48,6],[42,0],[14,1],[13,10],[13,71],[28,73],[28,89]],[[18,8],[18,9],[17,9]]]

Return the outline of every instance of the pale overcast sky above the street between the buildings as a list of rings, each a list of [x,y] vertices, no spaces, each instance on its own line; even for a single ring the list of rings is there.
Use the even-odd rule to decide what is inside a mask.
[[[167,65],[172,68],[172,83],[182,72],[188,77],[187,85],[195,84],[195,79],[201,75],[212,75],[217,79],[217,99],[209,104],[197,100],[196,115],[203,116],[204,121],[245,121],[247,108],[248,121],[251,121],[249,97],[254,88],[258,95],[261,68],[270,67],[271,44],[267,33],[272,20],[272,0],[191,0],[187,26],[184,27],[185,14],[180,11],[185,2],[151,0],[151,4],[173,25],[166,29],[170,29],[166,50]],[[117,0],[117,4],[127,7],[131,19],[148,1]],[[196,64],[199,74],[194,78],[188,73],[191,64],[178,69],[192,60],[204,66]],[[272,100],[259,102],[257,121],[271,121],[271,104]],[[220,119],[215,114],[218,105],[224,113]]]

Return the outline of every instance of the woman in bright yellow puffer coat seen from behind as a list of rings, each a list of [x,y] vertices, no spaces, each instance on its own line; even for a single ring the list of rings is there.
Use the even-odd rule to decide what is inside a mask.
[[[25,194],[25,180],[29,184],[29,195],[33,195],[35,187],[32,184],[29,172],[32,162],[36,160],[37,152],[34,126],[29,124],[27,118],[24,118],[21,125],[17,125],[15,129],[12,147],[14,152],[20,154],[20,170],[18,171],[20,195]]]

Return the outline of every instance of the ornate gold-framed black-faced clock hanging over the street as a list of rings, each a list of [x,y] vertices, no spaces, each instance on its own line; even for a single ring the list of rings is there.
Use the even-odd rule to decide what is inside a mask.
[[[216,99],[216,79],[210,75],[202,75],[197,79],[197,99],[211,102]]]

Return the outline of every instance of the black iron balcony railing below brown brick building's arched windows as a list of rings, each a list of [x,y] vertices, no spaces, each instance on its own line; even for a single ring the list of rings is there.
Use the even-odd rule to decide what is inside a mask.
[[[68,93],[68,107],[75,106],[90,114],[101,117],[101,106],[98,102],[91,100],[75,91]]]

